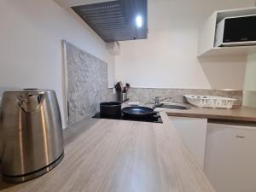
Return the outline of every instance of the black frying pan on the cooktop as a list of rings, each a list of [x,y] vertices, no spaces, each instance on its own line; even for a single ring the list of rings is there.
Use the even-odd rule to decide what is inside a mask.
[[[132,118],[147,118],[152,117],[156,112],[154,108],[147,108],[141,106],[123,108],[122,112]]]

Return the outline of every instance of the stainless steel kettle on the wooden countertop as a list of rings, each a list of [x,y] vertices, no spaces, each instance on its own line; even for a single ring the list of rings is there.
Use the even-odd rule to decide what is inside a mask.
[[[61,114],[53,90],[4,92],[0,131],[1,172],[6,181],[41,176],[63,158]]]

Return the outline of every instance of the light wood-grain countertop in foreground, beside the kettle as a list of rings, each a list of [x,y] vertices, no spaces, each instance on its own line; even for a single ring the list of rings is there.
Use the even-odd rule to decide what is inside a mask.
[[[94,119],[66,138],[65,158],[2,192],[214,192],[166,113],[163,124]],[[67,130],[68,131],[68,130]],[[77,132],[72,131],[71,132]]]

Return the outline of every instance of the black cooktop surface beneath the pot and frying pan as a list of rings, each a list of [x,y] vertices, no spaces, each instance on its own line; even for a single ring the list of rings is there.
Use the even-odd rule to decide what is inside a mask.
[[[160,113],[156,113],[151,117],[147,118],[132,118],[125,116],[124,113],[122,113],[120,118],[116,117],[102,117],[101,113],[96,113],[92,118],[96,119],[117,119],[117,120],[131,120],[131,121],[141,121],[141,122],[151,122],[151,123],[163,123],[163,120],[161,119]]]

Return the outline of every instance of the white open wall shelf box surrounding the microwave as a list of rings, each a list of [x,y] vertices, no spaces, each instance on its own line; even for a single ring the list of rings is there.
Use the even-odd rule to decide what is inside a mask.
[[[256,53],[256,45],[214,47],[216,26],[220,20],[230,16],[256,15],[256,7],[215,11],[201,26],[198,40],[198,56],[241,56]]]

